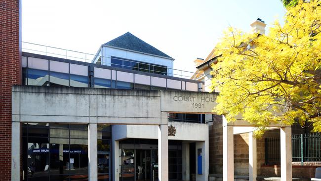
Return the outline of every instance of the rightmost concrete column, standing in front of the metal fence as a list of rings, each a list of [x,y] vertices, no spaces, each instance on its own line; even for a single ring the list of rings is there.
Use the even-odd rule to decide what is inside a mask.
[[[281,181],[292,181],[292,141],[291,127],[280,129]]]

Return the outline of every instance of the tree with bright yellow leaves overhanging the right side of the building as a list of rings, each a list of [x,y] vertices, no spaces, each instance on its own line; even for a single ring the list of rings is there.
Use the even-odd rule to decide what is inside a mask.
[[[271,123],[313,125],[321,131],[321,0],[287,9],[284,25],[267,35],[225,32],[216,46],[212,90],[215,112],[255,124],[261,136]]]

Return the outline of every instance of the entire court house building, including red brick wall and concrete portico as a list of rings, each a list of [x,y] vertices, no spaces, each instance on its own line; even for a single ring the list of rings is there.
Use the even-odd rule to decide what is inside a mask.
[[[277,125],[256,140],[211,112],[215,49],[192,73],[129,32],[94,55],[22,43],[21,2],[0,7],[1,181],[289,180],[291,161],[294,177],[320,165],[320,134]]]

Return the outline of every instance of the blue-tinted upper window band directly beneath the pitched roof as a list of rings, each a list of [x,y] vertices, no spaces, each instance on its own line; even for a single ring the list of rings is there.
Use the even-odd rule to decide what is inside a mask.
[[[111,58],[111,66],[119,67],[130,70],[137,70],[141,72],[150,72],[154,74],[167,75],[167,67],[161,65],[155,65],[151,63],[143,63],[134,60],[122,59],[118,57]]]

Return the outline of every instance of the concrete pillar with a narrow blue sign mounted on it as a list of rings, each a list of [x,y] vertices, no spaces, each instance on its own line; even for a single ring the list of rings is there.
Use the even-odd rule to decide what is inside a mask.
[[[209,159],[208,159],[208,139],[206,141],[197,141],[195,144],[195,153],[196,153],[196,181],[208,181],[208,166],[209,166]],[[198,174],[198,150],[201,149],[202,153],[202,173]]]

